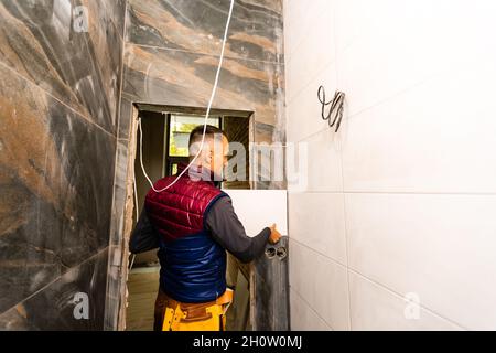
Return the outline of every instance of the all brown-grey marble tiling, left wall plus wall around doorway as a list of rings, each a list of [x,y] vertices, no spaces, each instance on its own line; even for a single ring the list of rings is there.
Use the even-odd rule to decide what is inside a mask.
[[[228,4],[0,0],[0,328],[115,328],[132,103],[206,106]],[[281,1],[237,1],[214,107],[254,111],[255,141],[284,139],[282,53]]]

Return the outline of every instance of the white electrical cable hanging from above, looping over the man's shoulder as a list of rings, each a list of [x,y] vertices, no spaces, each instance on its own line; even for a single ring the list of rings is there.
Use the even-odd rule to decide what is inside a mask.
[[[235,2],[235,0],[230,0],[229,14],[227,17],[226,29],[224,31],[223,46],[222,46],[222,51],[220,51],[220,58],[219,58],[219,62],[218,62],[217,73],[215,75],[214,88],[212,89],[211,99],[208,100],[208,106],[207,106],[207,110],[206,110],[206,114],[205,114],[205,121],[203,124],[203,136],[202,136],[202,143],[200,145],[200,150],[196,153],[196,156],[192,159],[190,164],[187,164],[187,167],[177,175],[177,178],[175,178],[175,180],[172,183],[170,183],[169,185],[166,185],[165,188],[163,188],[161,190],[157,190],[154,188],[153,182],[148,176],[147,171],[144,170],[144,165],[143,165],[143,132],[142,132],[142,129],[141,129],[141,118],[138,119],[138,127],[139,127],[139,130],[140,130],[140,163],[141,163],[141,169],[142,169],[144,176],[147,178],[148,182],[150,183],[150,185],[151,185],[151,188],[153,189],[154,192],[158,192],[158,193],[159,192],[163,192],[163,191],[168,190],[169,188],[171,188],[172,185],[174,185],[177,182],[177,180],[181,176],[183,176],[184,173],[191,168],[191,165],[193,165],[193,163],[198,158],[200,153],[202,153],[203,146],[204,146],[204,142],[205,142],[205,133],[206,133],[206,126],[207,126],[207,121],[208,121],[208,116],[211,114],[212,104],[214,103],[214,97],[215,97],[215,93],[217,90],[217,85],[218,85],[218,77],[220,75],[220,69],[223,67],[224,50],[226,47],[227,32],[228,32],[228,29],[229,29],[230,18],[233,15],[234,2]]]

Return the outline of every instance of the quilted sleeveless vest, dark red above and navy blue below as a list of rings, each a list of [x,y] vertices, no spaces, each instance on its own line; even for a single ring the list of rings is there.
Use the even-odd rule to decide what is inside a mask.
[[[198,180],[198,174],[192,175],[184,173],[163,192],[150,190],[144,207],[162,235],[160,288],[181,302],[208,302],[226,290],[226,252],[208,234],[204,220],[208,207],[227,194],[213,182]],[[154,186],[161,190],[174,180],[163,178]]]

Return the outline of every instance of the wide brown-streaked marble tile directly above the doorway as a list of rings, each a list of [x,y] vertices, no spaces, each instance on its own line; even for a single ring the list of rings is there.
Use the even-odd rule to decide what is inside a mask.
[[[134,101],[206,107],[218,58],[173,50],[127,45],[123,90]],[[283,114],[281,65],[225,58],[214,108],[255,111],[277,125]]]

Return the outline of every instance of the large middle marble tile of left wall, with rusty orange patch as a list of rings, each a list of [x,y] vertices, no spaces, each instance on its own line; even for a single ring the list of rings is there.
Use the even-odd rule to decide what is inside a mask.
[[[0,64],[0,312],[108,246],[116,138]]]

